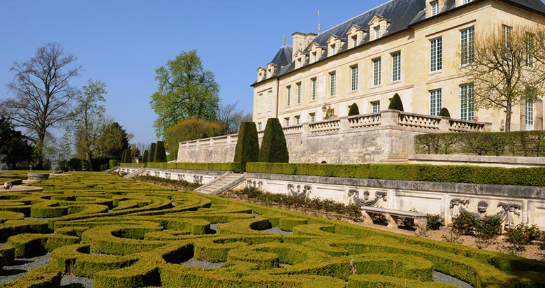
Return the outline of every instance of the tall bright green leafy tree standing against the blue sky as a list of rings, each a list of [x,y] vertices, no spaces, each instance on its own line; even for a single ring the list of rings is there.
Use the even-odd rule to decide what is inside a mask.
[[[159,85],[150,104],[157,113],[157,137],[162,138],[170,127],[188,117],[216,120],[219,85],[214,73],[204,69],[196,50],[180,53],[155,72]]]

